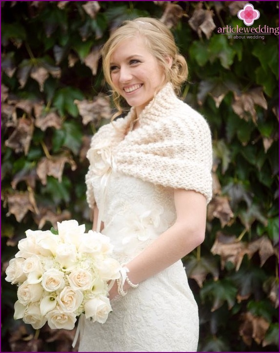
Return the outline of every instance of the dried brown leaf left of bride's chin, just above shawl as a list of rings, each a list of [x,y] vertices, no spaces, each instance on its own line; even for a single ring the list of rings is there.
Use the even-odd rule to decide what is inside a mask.
[[[74,103],[78,106],[83,125],[90,122],[96,125],[101,118],[110,119],[111,117],[110,99],[102,94],[94,97],[93,102],[75,100]]]

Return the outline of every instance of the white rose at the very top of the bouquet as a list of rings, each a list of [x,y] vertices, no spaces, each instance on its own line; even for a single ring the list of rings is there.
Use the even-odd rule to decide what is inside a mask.
[[[74,244],[77,247],[80,244],[81,235],[85,232],[85,225],[79,226],[76,220],[58,222],[58,231],[61,239],[65,243]]]

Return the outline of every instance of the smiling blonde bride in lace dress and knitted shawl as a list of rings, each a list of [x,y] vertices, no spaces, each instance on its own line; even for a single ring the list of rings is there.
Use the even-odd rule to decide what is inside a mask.
[[[103,71],[118,114],[88,151],[94,230],[123,264],[104,324],[81,317],[79,352],[196,352],[198,306],[181,258],[205,236],[211,134],[178,95],[187,63],[160,21],[125,21],[105,43]]]

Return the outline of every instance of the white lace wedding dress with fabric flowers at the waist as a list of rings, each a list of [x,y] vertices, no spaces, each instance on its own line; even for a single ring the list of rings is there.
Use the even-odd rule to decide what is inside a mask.
[[[105,170],[93,180],[94,196],[114,255],[127,262],[175,220],[173,190]],[[164,257],[164,254],[162,254]],[[79,352],[196,352],[198,307],[182,262],[111,301],[104,324],[85,320]]]

